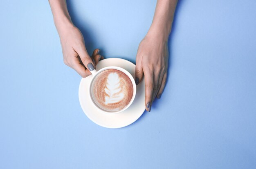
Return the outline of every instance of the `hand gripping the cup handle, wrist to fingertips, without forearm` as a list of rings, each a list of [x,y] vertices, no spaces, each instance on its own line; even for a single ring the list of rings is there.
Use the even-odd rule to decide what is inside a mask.
[[[99,60],[103,59],[103,56],[99,55],[99,49],[93,51],[91,58],[85,48],[81,31],[74,25],[59,31],[59,36],[64,63],[83,78],[89,76]]]

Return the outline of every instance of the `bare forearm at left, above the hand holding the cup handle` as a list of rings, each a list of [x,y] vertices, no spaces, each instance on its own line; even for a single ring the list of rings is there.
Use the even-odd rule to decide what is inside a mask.
[[[66,0],[49,0],[54,18],[54,24],[59,34],[65,31],[65,28],[74,26],[67,11]]]

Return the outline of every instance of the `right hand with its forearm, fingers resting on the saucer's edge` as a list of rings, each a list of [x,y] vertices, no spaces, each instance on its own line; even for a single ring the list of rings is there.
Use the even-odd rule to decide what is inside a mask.
[[[177,0],[157,0],[155,14],[136,56],[135,82],[145,76],[145,106],[150,111],[155,97],[160,98],[167,78],[168,37],[171,33]]]

